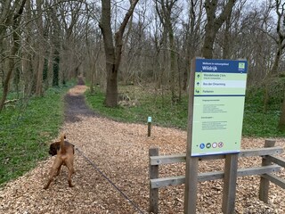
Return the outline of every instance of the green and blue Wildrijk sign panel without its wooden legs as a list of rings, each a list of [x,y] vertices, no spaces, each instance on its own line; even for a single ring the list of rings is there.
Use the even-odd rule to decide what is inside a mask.
[[[195,62],[191,156],[240,152],[248,62]]]

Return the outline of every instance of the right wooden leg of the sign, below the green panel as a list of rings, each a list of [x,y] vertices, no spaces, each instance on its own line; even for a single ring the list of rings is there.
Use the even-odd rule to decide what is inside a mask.
[[[239,153],[225,155],[224,188],[222,210],[224,214],[234,213]]]

